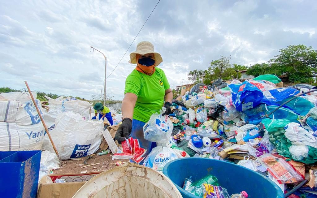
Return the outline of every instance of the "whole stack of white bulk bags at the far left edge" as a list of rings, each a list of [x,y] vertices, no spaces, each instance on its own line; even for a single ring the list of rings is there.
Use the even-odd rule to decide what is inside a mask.
[[[36,92],[32,93],[36,98]],[[42,113],[42,105],[36,99]],[[44,127],[29,93],[0,94],[0,151],[40,150]]]

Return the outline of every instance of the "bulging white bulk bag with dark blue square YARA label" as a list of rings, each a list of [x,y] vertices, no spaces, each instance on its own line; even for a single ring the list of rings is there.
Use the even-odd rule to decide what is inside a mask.
[[[55,129],[50,132],[62,160],[91,155],[99,149],[103,131],[103,121],[84,120],[74,112],[63,112],[55,120]],[[46,139],[46,138],[45,138]],[[45,149],[50,147],[45,141]]]

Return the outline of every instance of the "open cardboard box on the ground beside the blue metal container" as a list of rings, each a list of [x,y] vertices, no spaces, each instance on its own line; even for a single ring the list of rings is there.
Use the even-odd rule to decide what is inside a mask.
[[[50,174],[49,177],[51,182],[54,182],[57,178],[65,179],[66,182],[48,183],[49,180],[47,180],[46,177],[43,177],[39,182],[37,198],[72,198],[79,188],[99,173],[102,172]]]

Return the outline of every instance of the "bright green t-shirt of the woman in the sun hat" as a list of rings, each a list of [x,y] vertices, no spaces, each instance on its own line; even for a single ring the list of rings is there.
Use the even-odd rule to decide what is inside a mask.
[[[136,101],[133,119],[147,122],[153,113],[159,112],[164,105],[165,90],[170,84],[165,73],[160,68],[155,68],[152,76],[133,70],[126,78],[124,94],[134,93]]]

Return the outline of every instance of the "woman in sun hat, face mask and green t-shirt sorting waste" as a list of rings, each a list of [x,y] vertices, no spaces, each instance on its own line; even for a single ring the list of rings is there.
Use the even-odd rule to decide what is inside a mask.
[[[140,147],[147,150],[146,155],[156,143],[144,139],[143,126],[162,106],[166,108],[162,115],[171,113],[173,94],[164,71],[157,68],[162,61],[152,43],[146,41],[140,42],[137,50],[130,54],[129,62],[137,66],[126,78],[121,107],[123,120],[115,135],[119,143],[129,136],[139,139]]]

